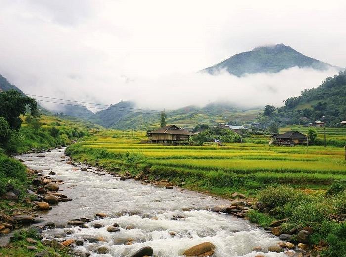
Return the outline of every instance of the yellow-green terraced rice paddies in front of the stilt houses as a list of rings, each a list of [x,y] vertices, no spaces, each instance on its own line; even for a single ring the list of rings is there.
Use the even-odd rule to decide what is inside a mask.
[[[333,128],[333,131],[339,140],[342,139],[342,128]],[[342,147],[270,147],[267,143],[269,140],[263,135],[259,136],[266,143],[164,146],[144,143],[147,140],[145,132],[132,134],[132,131],[108,130],[96,132],[86,138],[82,148],[103,149],[114,154],[114,158],[137,154],[141,156],[140,162],[149,168],[153,175],[194,177],[206,180],[214,186],[324,186],[336,179],[346,178],[345,150]]]

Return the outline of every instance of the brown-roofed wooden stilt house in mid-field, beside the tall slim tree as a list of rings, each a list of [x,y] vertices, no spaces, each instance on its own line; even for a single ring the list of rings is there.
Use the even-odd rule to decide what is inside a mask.
[[[149,141],[153,143],[178,144],[179,141],[189,141],[194,133],[179,128],[176,125],[148,132]]]

